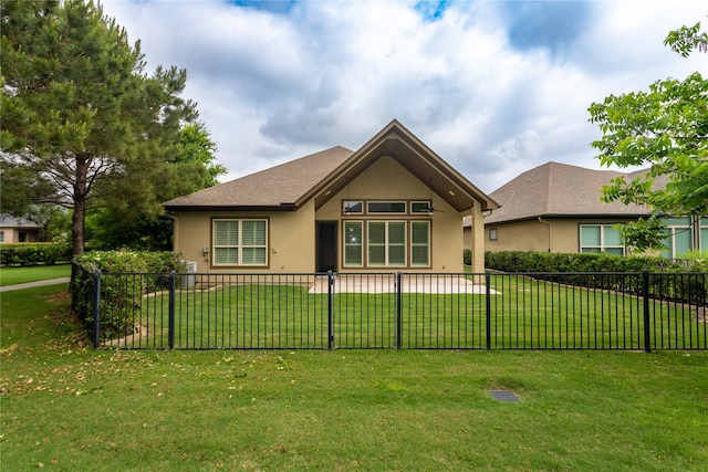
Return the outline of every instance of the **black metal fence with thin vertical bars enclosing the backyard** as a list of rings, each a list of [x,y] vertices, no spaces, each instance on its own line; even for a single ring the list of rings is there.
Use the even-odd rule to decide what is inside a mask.
[[[94,347],[708,349],[705,273],[102,274]]]

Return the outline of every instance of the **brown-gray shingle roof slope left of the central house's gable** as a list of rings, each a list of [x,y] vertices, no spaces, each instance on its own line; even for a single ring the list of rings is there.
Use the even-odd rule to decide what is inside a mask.
[[[335,146],[260,172],[163,203],[168,210],[195,207],[277,208],[292,204],[344,162],[352,150]]]

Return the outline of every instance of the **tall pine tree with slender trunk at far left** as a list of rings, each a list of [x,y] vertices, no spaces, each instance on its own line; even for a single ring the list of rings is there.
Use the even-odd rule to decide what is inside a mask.
[[[72,209],[74,254],[94,202],[158,214],[155,189],[197,116],[186,72],[146,74],[139,42],[92,1],[2,1],[0,25],[2,211]]]

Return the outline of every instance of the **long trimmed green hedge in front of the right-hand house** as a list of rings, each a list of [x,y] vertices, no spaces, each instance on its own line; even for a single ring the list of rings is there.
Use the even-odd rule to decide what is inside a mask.
[[[587,273],[695,273],[694,277],[652,277],[648,295],[663,300],[702,304],[708,294],[708,260],[699,256],[689,260],[670,260],[659,256],[624,256],[590,253],[546,253],[501,251],[487,252],[485,265],[501,272],[534,272],[534,279],[550,280],[558,273],[571,273],[564,277],[570,285],[627,292],[627,284],[641,287],[641,281],[626,277],[587,277]],[[636,274],[635,277],[641,275]],[[637,289],[638,290],[638,289]],[[636,295],[642,295],[638,291]]]

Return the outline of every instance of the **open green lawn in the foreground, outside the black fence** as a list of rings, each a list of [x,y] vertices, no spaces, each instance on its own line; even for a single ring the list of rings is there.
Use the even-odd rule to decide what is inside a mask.
[[[706,352],[94,352],[61,290],[1,297],[3,470],[708,464]]]

